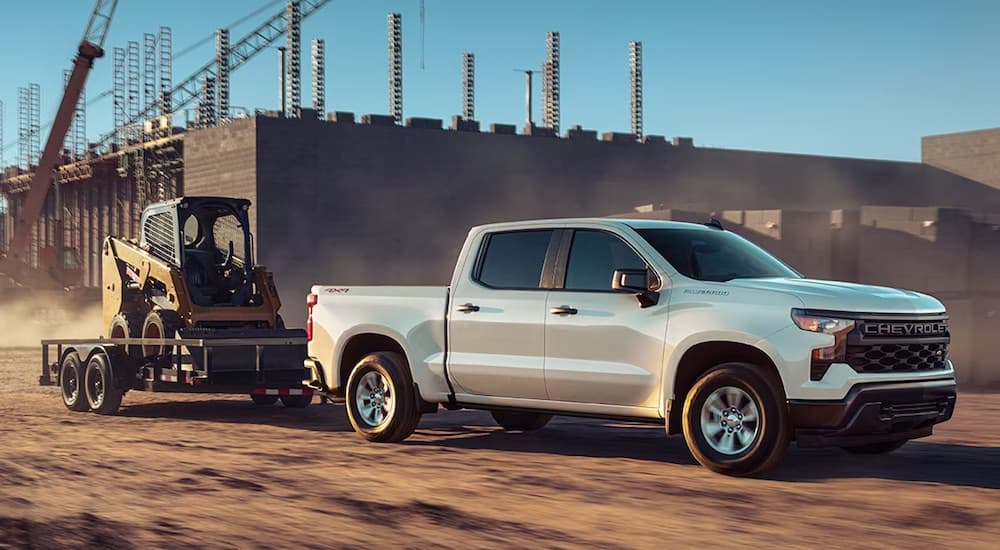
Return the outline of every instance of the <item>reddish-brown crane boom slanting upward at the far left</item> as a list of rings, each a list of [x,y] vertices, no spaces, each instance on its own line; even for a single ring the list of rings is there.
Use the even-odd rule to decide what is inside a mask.
[[[90,69],[94,66],[94,60],[104,56],[104,39],[107,38],[111,17],[117,7],[118,0],[97,0],[94,11],[90,14],[90,22],[83,34],[83,40],[80,41],[76,58],[73,60],[73,71],[70,73],[69,82],[63,91],[63,97],[59,102],[59,110],[56,112],[49,137],[45,141],[45,149],[42,150],[42,157],[31,178],[27,196],[14,220],[14,234],[7,249],[7,256],[0,258],[0,274],[14,281],[23,281],[24,275],[29,271],[25,256],[28,244],[31,242],[31,232],[45,206],[45,197],[52,186],[53,172],[59,160],[60,150],[73,120],[77,103],[80,101],[80,94],[87,82],[87,75],[90,74]],[[58,241],[62,240],[62,231],[57,231],[57,237]],[[63,272],[66,266],[64,262],[60,261],[63,256],[63,246],[58,241],[56,261],[53,262],[54,265],[49,267],[48,274],[57,283],[64,283],[66,277]]]

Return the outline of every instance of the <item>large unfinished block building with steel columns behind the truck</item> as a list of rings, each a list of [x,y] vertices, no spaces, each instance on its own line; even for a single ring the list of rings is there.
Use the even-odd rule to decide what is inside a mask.
[[[145,204],[181,194],[246,197],[254,204],[258,258],[276,274],[285,319],[300,325],[314,283],[448,284],[473,225],[605,215],[705,221],[714,214],[807,276],[940,297],[951,312],[962,381],[1000,382],[988,350],[1000,330],[1000,129],[926,137],[923,162],[667,140],[644,132],[642,48],[633,42],[632,131],[598,134],[560,121],[558,33],[545,41],[542,126],[529,118],[520,134],[513,124],[480,127],[472,54],[463,56],[462,115],[448,123],[404,118],[396,14],[388,19],[389,114],[325,113],[322,79],[313,79],[315,109],[302,107],[299,80],[299,25],[323,3],[289,2],[270,21],[277,29],[270,41],[251,44],[260,51],[285,38],[277,111],[229,107],[228,74],[250,50],[228,33],[217,36],[208,69],[177,86],[163,71],[166,61],[137,68],[138,43],[116,53],[116,132],[103,148],[67,147],[31,261],[40,261],[61,227],[83,268],[81,286],[97,287],[101,239],[135,235]],[[143,42],[156,59],[161,37]],[[312,44],[313,73],[318,66],[322,75],[323,43]],[[30,181],[30,136],[38,127],[31,97],[29,90],[24,158],[2,184],[4,247]],[[133,97],[146,99],[134,104]],[[181,122],[184,105],[194,105],[196,115]]]

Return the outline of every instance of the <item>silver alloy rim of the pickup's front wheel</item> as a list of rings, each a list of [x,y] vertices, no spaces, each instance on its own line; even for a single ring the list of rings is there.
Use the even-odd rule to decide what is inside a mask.
[[[716,451],[745,452],[760,433],[760,411],[750,394],[734,386],[716,389],[701,406],[701,433]]]

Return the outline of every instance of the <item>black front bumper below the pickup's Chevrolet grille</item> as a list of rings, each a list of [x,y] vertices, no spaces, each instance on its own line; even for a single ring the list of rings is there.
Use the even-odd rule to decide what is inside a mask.
[[[955,411],[955,381],[854,386],[844,399],[792,399],[788,411],[799,447],[848,447],[931,435]]]

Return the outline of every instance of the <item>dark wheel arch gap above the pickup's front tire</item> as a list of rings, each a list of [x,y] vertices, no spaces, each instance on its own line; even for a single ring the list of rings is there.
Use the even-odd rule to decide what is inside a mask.
[[[710,340],[696,343],[687,348],[677,362],[673,377],[672,391],[667,392],[664,414],[667,433],[681,432],[681,411],[685,397],[694,383],[712,367],[721,363],[749,363],[760,367],[774,376],[782,388],[783,383],[777,364],[761,348],[734,340]]]

